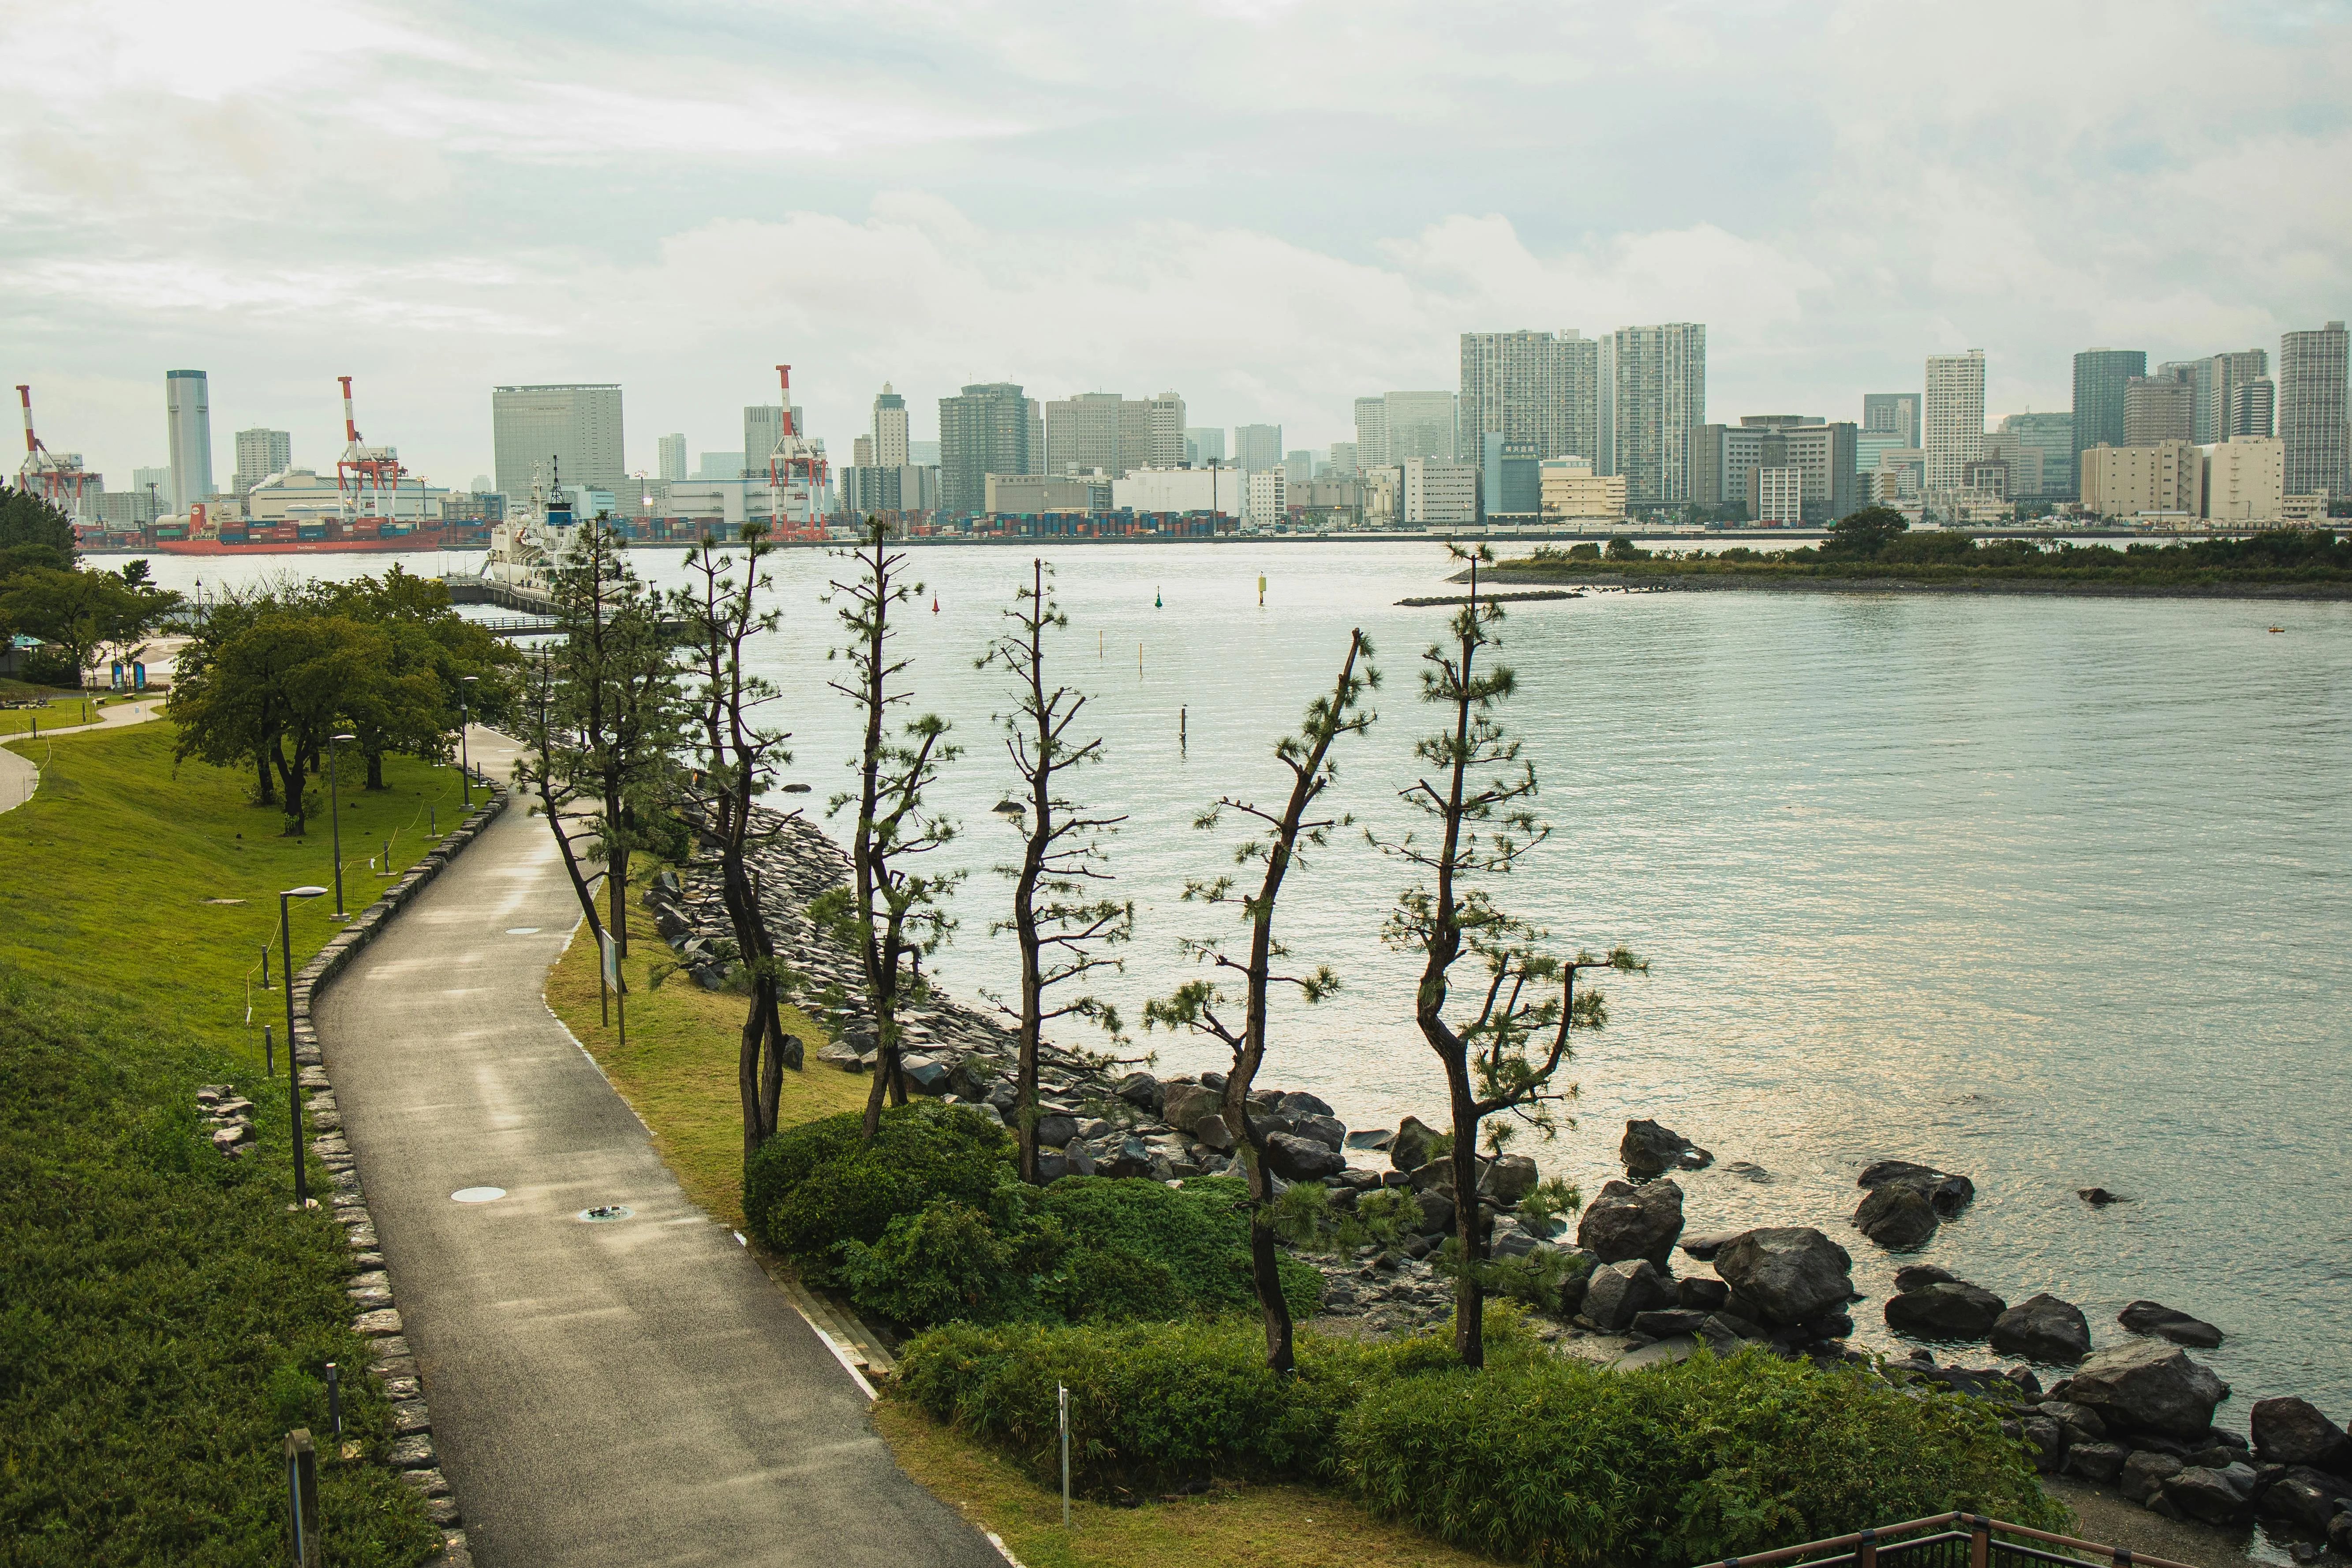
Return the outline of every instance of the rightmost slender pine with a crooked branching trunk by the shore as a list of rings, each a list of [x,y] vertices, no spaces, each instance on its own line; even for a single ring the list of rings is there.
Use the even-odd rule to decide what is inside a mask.
[[[1435,837],[1406,832],[1383,842],[1390,856],[1418,867],[1383,929],[1390,947],[1421,957],[1414,1023],[1446,1074],[1454,1161],[1454,1349],[1465,1366],[1486,1363],[1486,1215],[1479,1192],[1479,1131],[1489,1117],[1515,1117],[1550,1133],[1552,1105],[1571,1098],[1557,1084],[1569,1060],[1569,1032],[1606,1023],[1599,990],[1576,994],[1585,969],[1644,971],[1625,947],[1606,959],[1562,959],[1545,947],[1545,931],[1503,910],[1479,886],[1510,875],[1538,849],[1550,827],[1536,820],[1536,764],[1519,755],[1496,708],[1517,691],[1505,663],[1479,668],[1496,646],[1503,607],[1477,599],[1477,569],[1491,559],[1454,550],[1470,562],[1470,602],[1454,616],[1454,646],[1432,644],[1421,656],[1421,701],[1446,712],[1446,726],[1414,748],[1430,771],[1402,795],[1435,823]],[[1463,957],[1484,971],[1449,1016],[1451,971]],[[1557,990],[1557,994],[1555,994]],[[1510,1124],[1489,1128],[1489,1154],[1501,1154]]]

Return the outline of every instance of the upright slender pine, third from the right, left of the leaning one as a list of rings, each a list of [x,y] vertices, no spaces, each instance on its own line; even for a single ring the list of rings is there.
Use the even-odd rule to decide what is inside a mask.
[[[1103,738],[1077,738],[1087,705],[1082,691],[1047,689],[1044,635],[1068,630],[1070,618],[1054,602],[1051,578],[1042,559],[1030,562],[1030,585],[1014,592],[1004,611],[1011,630],[990,644],[981,668],[997,665],[1014,677],[1014,712],[1002,719],[1004,750],[1021,783],[1028,785],[1028,825],[1021,842],[1021,865],[1000,867],[1014,882],[1011,919],[990,926],[990,936],[1011,931],[1021,943],[1021,1048],[1014,1086],[1021,1095],[1014,1133],[1021,1140],[1021,1180],[1037,1180],[1037,1048],[1044,1025],[1056,1018],[1087,1018],[1120,1037],[1120,1013],[1094,994],[1070,997],[1047,1009],[1047,992],[1084,980],[1096,969],[1117,969],[1103,952],[1134,938],[1136,903],[1105,898],[1110,882],[1103,867],[1103,837],[1117,832],[1124,816],[1098,816],[1068,797],[1068,776],[1103,759]]]

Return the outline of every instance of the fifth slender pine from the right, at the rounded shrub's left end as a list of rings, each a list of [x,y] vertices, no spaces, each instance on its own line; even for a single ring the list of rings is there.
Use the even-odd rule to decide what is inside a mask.
[[[673,611],[684,623],[687,670],[694,679],[687,724],[694,771],[677,788],[701,811],[703,837],[717,842],[720,898],[753,985],[736,1046],[746,1164],[776,1135],[783,1070],[797,1072],[802,1065],[800,1039],[783,1032],[779,1011],[790,976],[776,957],[748,865],[750,844],[774,837],[755,830],[753,809],[776,780],[776,769],[793,762],[793,752],[783,750],[790,736],[760,722],[760,710],[783,693],[743,661],[753,637],[783,623],[783,611],[757,607],[757,595],[774,588],[762,567],[774,548],[764,522],[743,524],[736,576],[736,557],[722,555],[706,534],[701,545],[687,550],[691,585],[670,595]]]

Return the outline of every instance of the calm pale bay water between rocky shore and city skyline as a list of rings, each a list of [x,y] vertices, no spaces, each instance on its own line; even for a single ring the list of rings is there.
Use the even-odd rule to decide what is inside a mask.
[[[675,583],[677,559],[647,550],[640,569]],[[938,973],[1004,990],[1014,954],[985,931],[1004,900],[990,867],[1016,853],[988,811],[1014,792],[990,724],[1009,693],[974,656],[1030,555],[913,562],[917,708],[967,745],[941,802],[974,875]],[[840,665],[818,604],[844,567],[779,557],[788,623],[762,649],[790,693],[793,778],[814,788],[779,804],[818,818],[856,738],[826,689]],[[188,588],[275,567],[155,569]],[[1416,663],[1446,611],[1395,599],[1442,590],[1446,564],[1390,543],[1087,545],[1058,569],[1061,677],[1094,693],[1108,738],[1082,788],[1129,813],[1115,865],[1141,929],[1101,990],[1134,1018],[1190,973],[1174,940],[1204,912],[1178,903],[1183,879],[1228,865],[1232,835],[1192,816],[1218,792],[1282,792],[1270,745],[1355,625],[1388,686],[1334,804],[1404,825],[1395,792],[1437,717]],[[1625,1119],[1658,1117],[1719,1161],[1682,1178],[1689,1229],[1820,1225],[1856,1255],[1856,1324],[1879,1345],[1900,1260],[1846,1225],[1853,1175],[1884,1157],[1964,1171],[1976,1206],[1919,1260],[2009,1300],[2074,1300],[2096,1342],[2122,1338],[2114,1312],[2140,1295],[2220,1324],[2209,1359],[2237,1387],[2232,1425],[2281,1392],[2352,1415],[2352,607],[1602,595],[1512,607],[1503,637],[1522,682],[1508,717],[1557,823],[1503,893],[1566,947],[1625,940],[1653,961],[1606,987],[1611,1025],[1581,1041],[1578,1126],[1517,1147],[1590,1194]],[[1284,893],[1284,940],[1345,990],[1277,1013],[1263,1077],[1350,1126],[1444,1105],[1411,1027],[1416,971],[1378,943],[1402,882],[1343,835]],[[1138,1044],[1162,1072],[1221,1058]],[[2131,1201],[2093,1211],[2074,1197],[2089,1185]]]

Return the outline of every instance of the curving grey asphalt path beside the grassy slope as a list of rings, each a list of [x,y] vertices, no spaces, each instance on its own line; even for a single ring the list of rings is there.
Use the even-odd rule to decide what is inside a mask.
[[[318,1006],[473,1559],[1002,1568],[548,1013],[576,919],[546,823],[508,806]],[[597,1204],[635,1215],[576,1218]]]

